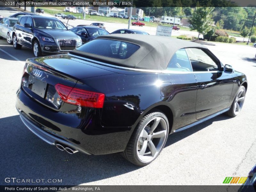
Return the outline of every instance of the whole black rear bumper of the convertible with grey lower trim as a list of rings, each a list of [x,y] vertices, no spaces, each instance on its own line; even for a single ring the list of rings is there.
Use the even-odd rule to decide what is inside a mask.
[[[22,122],[40,139],[51,145],[62,143],[85,154],[122,152],[132,133],[130,127],[102,126],[96,109],[84,108],[79,116],[72,111],[54,111],[22,89],[17,92],[16,108]]]

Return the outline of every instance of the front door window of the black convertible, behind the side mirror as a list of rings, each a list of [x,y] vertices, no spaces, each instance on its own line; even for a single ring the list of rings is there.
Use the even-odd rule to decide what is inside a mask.
[[[191,62],[193,71],[216,71],[218,65],[212,60],[212,58],[198,48],[186,48],[189,60]]]

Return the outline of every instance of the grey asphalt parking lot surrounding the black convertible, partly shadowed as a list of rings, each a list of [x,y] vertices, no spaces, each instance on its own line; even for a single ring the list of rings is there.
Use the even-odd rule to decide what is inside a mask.
[[[256,48],[217,43],[208,48],[246,74],[248,92],[241,113],[235,118],[220,115],[170,135],[153,163],[137,167],[119,154],[69,155],[30,132],[15,109],[15,93],[32,50],[15,50],[0,40],[0,184],[12,184],[4,179],[16,177],[61,179],[62,185],[222,185],[228,176],[247,177],[256,162]]]

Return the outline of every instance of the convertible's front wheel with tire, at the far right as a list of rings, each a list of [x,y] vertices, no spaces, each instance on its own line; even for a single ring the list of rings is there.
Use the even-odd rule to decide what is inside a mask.
[[[244,104],[245,93],[246,93],[245,87],[240,86],[229,111],[226,113],[228,116],[235,117],[241,111]]]

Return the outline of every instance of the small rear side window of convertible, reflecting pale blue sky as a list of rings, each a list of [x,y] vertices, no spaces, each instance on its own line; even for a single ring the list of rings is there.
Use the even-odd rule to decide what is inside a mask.
[[[180,49],[174,53],[167,66],[167,69],[172,71],[192,71],[188,54],[185,49]]]

